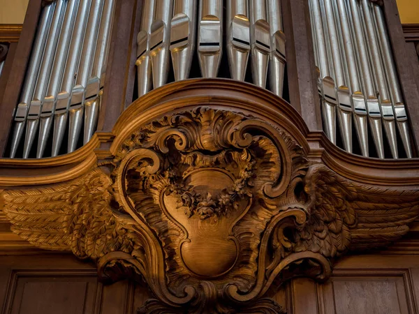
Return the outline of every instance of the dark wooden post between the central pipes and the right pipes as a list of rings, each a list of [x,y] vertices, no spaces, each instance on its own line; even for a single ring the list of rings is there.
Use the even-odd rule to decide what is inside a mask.
[[[282,0],[291,105],[309,130],[322,130],[307,0]]]

